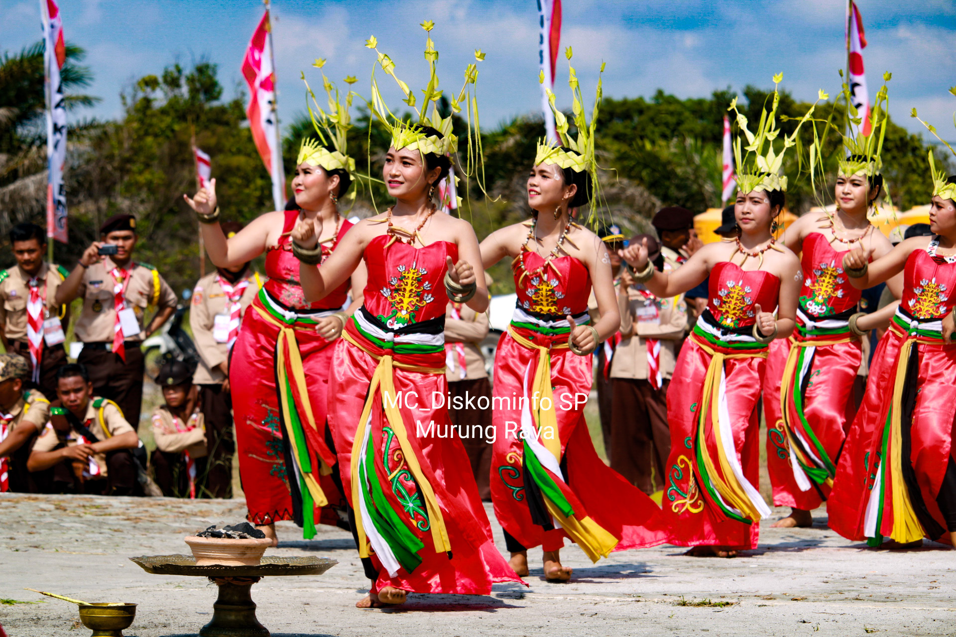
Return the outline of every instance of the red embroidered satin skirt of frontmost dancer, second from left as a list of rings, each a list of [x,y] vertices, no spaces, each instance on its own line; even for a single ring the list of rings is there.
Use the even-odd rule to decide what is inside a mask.
[[[411,572],[398,568],[395,575],[389,574],[379,554],[372,553],[372,563],[379,572],[372,592],[394,586],[417,593],[488,595],[493,583],[521,582],[491,539],[491,526],[478,496],[465,447],[449,424],[445,405],[437,399],[447,395],[444,372],[393,369],[392,382],[397,395],[402,396],[398,405],[410,449],[400,448],[391,426],[394,423],[390,423],[385,414],[382,393],[375,391],[367,420],[371,444],[366,449],[371,453],[362,467],[364,484],[372,485],[374,500],[368,499],[366,492],[359,494],[362,502],[354,501],[353,462],[359,462],[359,458],[354,458],[352,452],[366,397],[380,363],[368,352],[379,356],[383,352],[362,337],[355,329],[354,320],[349,321],[346,329],[362,348],[343,340],[337,343],[329,362],[334,370],[329,382],[329,426],[345,494],[350,505],[356,508],[357,517],[361,515],[359,507],[374,505],[378,515],[396,520],[401,526],[400,532],[420,547],[415,552],[418,558],[407,554],[406,557],[420,558],[421,562]],[[444,350],[433,358],[396,355],[398,362],[411,359],[425,367],[443,366]],[[406,453],[417,458],[421,476],[437,499],[450,544],[448,552],[436,551],[430,527],[435,520],[424,516],[422,492],[408,470]],[[397,554],[399,548],[396,545]]]

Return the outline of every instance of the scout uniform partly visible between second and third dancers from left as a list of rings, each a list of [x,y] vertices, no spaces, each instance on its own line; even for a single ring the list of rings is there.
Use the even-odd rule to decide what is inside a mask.
[[[464,304],[455,304],[454,308],[458,308],[461,318],[453,319],[452,308],[451,303],[445,307],[445,378],[448,381],[450,398],[461,396],[463,409],[448,405],[448,416],[451,424],[459,428],[458,435],[465,445],[471,470],[478,483],[478,494],[482,499],[490,499],[491,444],[486,434],[491,427],[491,410],[478,409],[476,406],[481,396],[487,396],[489,404],[491,400],[491,384],[485,370],[485,356],[480,349],[481,342],[488,336],[488,314],[479,314]],[[458,344],[465,351],[464,378],[461,374],[459,350],[456,347]],[[466,403],[466,400],[470,402]]]

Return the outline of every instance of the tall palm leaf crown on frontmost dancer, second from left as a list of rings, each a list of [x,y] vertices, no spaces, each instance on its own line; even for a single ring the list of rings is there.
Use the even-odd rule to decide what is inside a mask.
[[[425,21],[422,23],[422,28],[425,32],[431,32],[431,30],[435,28],[435,23],[430,20]],[[379,84],[375,79],[375,70],[373,68],[372,102],[369,106],[376,117],[379,118],[380,122],[391,133],[392,147],[395,148],[395,150],[402,148],[417,150],[422,154],[434,153],[435,155],[445,155],[446,153],[456,152],[458,150],[458,138],[451,132],[451,124],[452,117],[461,112],[462,104],[465,104],[468,109],[469,118],[471,109],[474,108],[476,117],[475,125],[477,126],[477,104],[470,95],[468,86],[474,84],[478,78],[478,67],[475,64],[467,65],[465,69],[465,85],[462,87],[458,96],[452,94],[450,99],[451,113],[448,117],[442,117],[438,112],[438,101],[442,98],[443,91],[439,89],[438,74],[435,72],[435,63],[438,61],[438,51],[435,50],[435,43],[432,41],[431,36],[428,35],[425,39],[424,58],[428,61],[429,78],[428,84],[422,90],[424,97],[422,99],[421,108],[416,107],[418,100],[415,93],[395,74],[395,62],[392,61],[391,57],[379,51],[378,44],[379,41],[374,35],[365,42],[367,48],[374,49],[376,53],[379,53],[378,62],[381,70],[391,75],[392,78],[398,82],[399,88],[402,89],[402,93],[405,96],[402,101],[415,111],[415,115],[418,116],[418,121],[405,121],[388,109],[388,106],[385,105],[385,100],[381,97]],[[485,59],[485,53],[482,53],[480,50],[475,51],[475,60],[481,61],[483,59]],[[442,134],[442,137],[426,135],[422,131],[422,127],[424,126],[434,128]]]

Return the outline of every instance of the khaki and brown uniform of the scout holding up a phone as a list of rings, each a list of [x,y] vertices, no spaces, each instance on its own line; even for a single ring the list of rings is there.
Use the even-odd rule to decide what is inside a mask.
[[[83,273],[78,294],[83,308],[76,319],[76,339],[83,350],[76,359],[90,372],[94,391],[115,400],[134,429],[140,424],[142,405],[142,375],[145,372],[140,344],[143,339],[147,307],[157,310],[176,307],[176,293],[152,265],[130,262],[129,285],[126,287],[126,305],[133,309],[140,333],[124,339],[125,363],[113,353],[116,281],[110,272],[116,265],[107,257],[90,265]]]

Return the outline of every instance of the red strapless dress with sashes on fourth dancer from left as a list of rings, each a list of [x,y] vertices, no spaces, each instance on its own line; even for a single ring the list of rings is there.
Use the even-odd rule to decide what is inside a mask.
[[[757,401],[767,346],[754,307],[777,307],[780,280],[723,262],[707,308],[684,343],[667,391],[671,452],[663,514],[670,543],[754,548],[770,507],[760,497]]]

